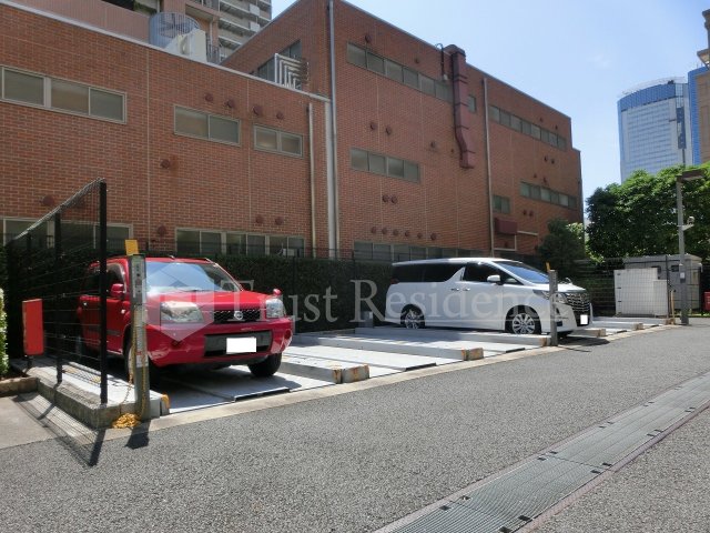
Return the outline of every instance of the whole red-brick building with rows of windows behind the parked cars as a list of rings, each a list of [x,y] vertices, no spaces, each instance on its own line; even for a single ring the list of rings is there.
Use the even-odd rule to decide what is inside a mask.
[[[568,117],[344,1],[298,1],[221,66],[0,13],[6,235],[95,178],[111,237],[178,252],[532,254],[581,221]]]

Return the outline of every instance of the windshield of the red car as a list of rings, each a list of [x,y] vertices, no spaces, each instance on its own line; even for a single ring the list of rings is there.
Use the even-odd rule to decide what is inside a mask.
[[[210,263],[148,261],[145,289],[149,294],[164,292],[237,292],[240,285],[220,266]]]

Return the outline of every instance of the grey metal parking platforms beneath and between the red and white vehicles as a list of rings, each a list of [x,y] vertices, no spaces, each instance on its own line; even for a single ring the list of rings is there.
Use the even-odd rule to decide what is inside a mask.
[[[658,326],[651,319],[598,320],[564,339],[574,344]],[[430,366],[456,364],[548,345],[547,335],[467,330],[358,328],[347,332],[296,335],[275,375],[254,379],[245,366],[165,373],[155,392],[165,396],[161,415],[272,394],[353,383]],[[116,374],[121,379],[122,374]]]

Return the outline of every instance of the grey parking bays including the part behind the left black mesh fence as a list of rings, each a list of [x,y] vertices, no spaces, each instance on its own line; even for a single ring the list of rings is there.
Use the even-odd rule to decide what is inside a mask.
[[[668,323],[666,319],[598,319],[560,340],[560,345],[607,342],[616,335]],[[514,335],[470,330],[409,330],[396,326],[357,328],[329,333],[295,335],[283,354],[280,371],[271,378],[255,379],[246,366],[222,370],[174,370],[164,372],[152,388],[151,418],[169,416],[234,402],[277,394],[337,386],[345,383],[419,369],[456,365],[463,361],[499,358],[505,354],[542,349],[550,344],[548,335]],[[115,413],[131,412],[133,386],[126,382],[120,362],[110,365],[109,408]],[[54,363],[42,358],[34,362],[34,375],[51,389],[55,380]],[[100,426],[118,415],[97,418],[99,395],[98,371],[78,363],[63,370],[63,386],[74,398],[72,409],[58,402],[80,422]],[[58,401],[58,400],[55,400]],[[83,403],[83,405],[82,405]],[[106,416],[112,416],[110,420]]]

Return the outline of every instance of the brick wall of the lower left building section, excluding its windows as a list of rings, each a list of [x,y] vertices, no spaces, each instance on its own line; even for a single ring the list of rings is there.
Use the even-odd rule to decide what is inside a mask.
[[[322,101],[8,6],[0,11],[8,22],[0,64],[120,91],[126,100],[125,123],[0,101],[0,218],[38,219],[48,209],[44,195],[60,202],[104,178],[110,223],[131,224],[151,248],[174,249],[176,228],[308,239],[307,109],[313,104],[315,180],[324,190]],[[37,40],[28,54],[30,29]],[[175,134],[175,105],[239,119],[240,145]],[[303,135],[304,155],[255,150],[255,124]],[[320,235],[324,205],[317,199]]]

